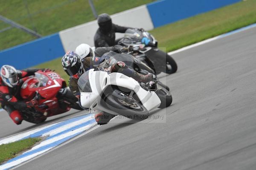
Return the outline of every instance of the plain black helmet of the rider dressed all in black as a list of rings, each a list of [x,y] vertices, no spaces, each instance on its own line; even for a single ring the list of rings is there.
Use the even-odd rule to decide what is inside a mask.
[[[112,28],[112,20],[109,14],[100,14],[98,16],[98,25],[103,32],[109,32]]]

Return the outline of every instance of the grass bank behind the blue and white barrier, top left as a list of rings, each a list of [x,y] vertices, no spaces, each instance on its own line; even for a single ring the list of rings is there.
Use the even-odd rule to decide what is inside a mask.
[[[115,14],[152,1],[93,0],[93,3],[98,14]],[[43,36],[94,20],[88,0],[0,0],[0,14],[27,28],[35,28]],[[0,29],[8,26],[0,21]],[[33,39],[35,37],[17,28],[9,29],[0,33],[0,50]]]

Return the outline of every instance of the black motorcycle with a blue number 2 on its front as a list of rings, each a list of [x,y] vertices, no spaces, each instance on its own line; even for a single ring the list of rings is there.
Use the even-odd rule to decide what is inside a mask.
[[[119,45],[129,48],[132,55],[145,62],[156,74],[172,74],[177,71],[177,63],[166,52],[157,48],[157,40],[148,32],[128,29],[125,36],[118,41]]]

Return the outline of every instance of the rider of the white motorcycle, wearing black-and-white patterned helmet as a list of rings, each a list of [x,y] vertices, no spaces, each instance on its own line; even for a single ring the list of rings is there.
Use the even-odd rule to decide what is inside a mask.
[[[125,62],[116,61],[113,57],[109,57],[105,54],[102,57],[92,57],[93,51],[87,54],[87,57],[81,59],[78,54],[74,51],[67,52],[61,59],[61,64],[64,71],[70,76],[69,87],[70,91],[73,92],[75,96],[80,97],[80,91],[77,85],[79,77],[91,68],[99,68],[100,70],[109,72],[120,72],[128,77],[132,77],[139,82],[150,82],[153,79],[152,74],[142,75],[137,73],[131,68],[125,65]],[[80,103],[80,100],[79,100]],[[81,105],[80,105],[81,106]],[[107,124],[113,115],[103,111],[95,111],[95,120],[99,125]]]

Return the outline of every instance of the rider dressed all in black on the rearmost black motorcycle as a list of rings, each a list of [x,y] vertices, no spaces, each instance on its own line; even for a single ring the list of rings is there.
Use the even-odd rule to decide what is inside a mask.
[[[117,42],[115,41],[116,32],[125,33],[127,29],[134,29],[131,27],[118,26],[112,23],[111,17],[108,14],[100,14],[98,16],[99,28],[94,35],[94,45],[95,47],[110,47]],[[139,30],[144,31],[143,28]]]

